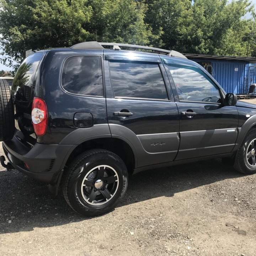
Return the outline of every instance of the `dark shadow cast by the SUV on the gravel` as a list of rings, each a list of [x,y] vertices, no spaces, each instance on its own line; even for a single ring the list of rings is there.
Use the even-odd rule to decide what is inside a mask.
[[[220,159],[140,172],[129,177],[127,192],[117,208],[151,198],[172,197],[181,191],[241,176]],[[75,213],[62,193],[54,197],[46,184],[16,170],[0,171],[0,198],[0,234],[89,219]]]

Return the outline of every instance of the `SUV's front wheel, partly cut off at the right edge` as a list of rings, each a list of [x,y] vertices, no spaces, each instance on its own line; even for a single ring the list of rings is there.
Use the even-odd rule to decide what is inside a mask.
[[[243,174],[256,173],[256,129],[247,132],[235,158],[235,169]]]

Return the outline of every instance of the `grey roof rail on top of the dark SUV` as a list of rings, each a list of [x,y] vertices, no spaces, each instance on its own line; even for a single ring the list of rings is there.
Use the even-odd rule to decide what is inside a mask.
[[[155,47],[148,47],[148,46],[139,46],[139,45],[134,45],[134,44],[121,44],[121,43],[98,43],[96,41],[92,42],[82,42],[75,44],[71,46],[71,49],[105,49],[103,46],[110,46],[110,49],[112,50],[122,50],[121,47],[123,48],[133,48],[133,49],[144,49],[144,50],[150,50],[153,51],[152,53],[160,53],[160,54],[165,54],[169,55],[172,57],[179,57],[183,59],[187,59],[183,54],[176,52],[175,50],[164,50],[160,48],[155,48]]]

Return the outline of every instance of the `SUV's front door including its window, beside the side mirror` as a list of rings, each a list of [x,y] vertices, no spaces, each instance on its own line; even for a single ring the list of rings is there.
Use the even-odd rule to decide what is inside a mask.
[[[238,136],[238,110],[224,106],[223,92],[198,66],[165,61],[180,114],[175,160],[230,153]]]

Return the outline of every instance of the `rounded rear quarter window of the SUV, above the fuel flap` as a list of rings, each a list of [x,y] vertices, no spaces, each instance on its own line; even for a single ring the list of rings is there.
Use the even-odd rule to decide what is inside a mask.
[[[73,56],[66,59],[62,86],[74,94],[103,96],[101,57]]]

